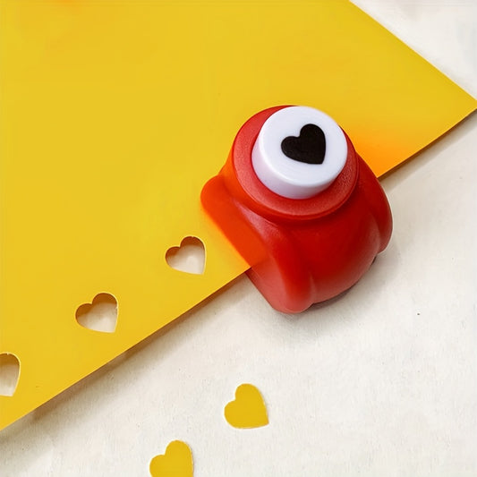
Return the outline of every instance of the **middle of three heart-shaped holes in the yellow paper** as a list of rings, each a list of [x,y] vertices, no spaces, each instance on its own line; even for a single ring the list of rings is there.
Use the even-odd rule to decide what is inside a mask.
[[[76,321],[81,327],[113,333],[117,323],[117,300],[112,294],[97,294],[90,303],[76,310]]]

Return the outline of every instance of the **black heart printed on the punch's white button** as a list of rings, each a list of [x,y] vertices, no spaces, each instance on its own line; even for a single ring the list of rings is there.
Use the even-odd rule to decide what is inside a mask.
[[[282,141],[287,158],[307,164],[322,164],[326,149],[325,133],[316,124],[305,124],[300,136],[288,136]]]

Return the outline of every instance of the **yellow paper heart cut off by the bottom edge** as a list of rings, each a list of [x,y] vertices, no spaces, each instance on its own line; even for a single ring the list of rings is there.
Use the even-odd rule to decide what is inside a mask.
[[[155,456],[149,464],[152,477],[192,477],[191,448],[182,440],[173,440],[163,456]]]

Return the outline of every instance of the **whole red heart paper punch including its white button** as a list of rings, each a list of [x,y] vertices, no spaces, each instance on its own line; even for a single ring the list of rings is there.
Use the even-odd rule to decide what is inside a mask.
[[[307,106],[253,115],[201,200],[251,281],[286,313],[354,285],[392,230],[376,176],[336,122]]]

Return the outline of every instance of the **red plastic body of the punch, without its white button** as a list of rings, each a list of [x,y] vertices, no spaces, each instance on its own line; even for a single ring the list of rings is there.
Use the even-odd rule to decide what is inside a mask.
[[[262,124],[282,107],[243,124],[201,200],[250,264],[260,293],[278,311],[295,313],[354,285],[386,248],[392,217],[378,179],[347,136],[345,167],[327,190],[304,200],[269,191],[255,175],[251,149]]]

